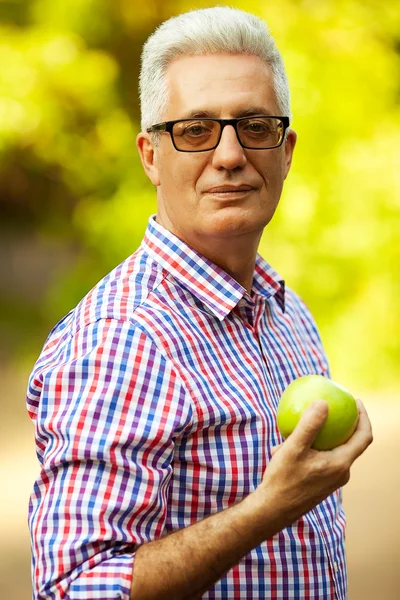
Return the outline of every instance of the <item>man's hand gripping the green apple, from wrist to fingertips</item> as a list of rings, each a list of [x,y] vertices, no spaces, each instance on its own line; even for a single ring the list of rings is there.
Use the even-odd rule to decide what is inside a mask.
[[[317,400],[304,412],[287,440],[273,451],[255,494],[261,505],[264,498],[265,506],[279,506],[282,529],[349,481],[351,465],[373,439],[364,405],[360,401],[357,404],[358,425],[345,444],[333,450],[311,448],[328,416],[327,403]],[[268,514],[266,519],[269,521]]]

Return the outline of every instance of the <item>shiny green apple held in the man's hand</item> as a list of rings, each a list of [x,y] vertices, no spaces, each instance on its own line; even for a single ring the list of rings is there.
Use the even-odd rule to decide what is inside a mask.
[[[312,447],[331,450],[347,442],[357,427],[357,403],[350,392],[322,375],[299,377],[283,392],[277,411],[278,427],[283,438],[292,433],[307,406],[321,399],[328,403],[329,412]]]

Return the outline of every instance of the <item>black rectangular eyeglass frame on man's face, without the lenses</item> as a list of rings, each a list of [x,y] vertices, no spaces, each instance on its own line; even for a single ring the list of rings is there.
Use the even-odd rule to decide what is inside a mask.
[[[279,144],[276,144],[275,146],[268,146],[267,148],[253,148],[252,146],[245,146],[244,144],[242,144],[240,137],[239,137],[239,132],[237,129],[238,123],[240,121],[246,121],[246,120],[248,121],[249,119],[279,119],[283,124],[283,135],[282,135],[282,139],[279,142]],[[198,120],[198,121],[214,121],[214,122],[220,124],[220,132],[219,132],[219,137],[218,137],[216,144],[214,146],[212,146],[212,148],[207,148],[206,150],[182,150],[181,148],[177,148],[176,144],[175,144],[174,136],[172,133],[172,129],[173,129],[174,125],[176,123],[184,123],[184,122],[190,122],[190,121],[196,121],[196,120]],[[191,119],[177,119],[176,121],[164,121],[163,123],[156,123],[155,125],[148,127],[146,129],[146,131],[147,131],[147,133],[169,133],[171,136],[171,140],[174,145],[174,148],[178,152],[209,152],[210,150],[215,150],[215,148],[218,146],[218,144],[221,141],[222,132],[224,130],[224,127],[226,127],[227,125],[232,125],[232,127],[234,128],[234,130],[236,132],[237,140],[238,140],[239,144],[242,146],[242,148],[246,148],[247,150],[272,150],[274,148],[279,148],[280,146],[282,146],[284,139],[285,139],[286,131],[290,125],[290,119],[289,119],[289,117],[281,116],[281,115],[249,115],[248,117],[239,117],[237,119],[212,119],[210,117],[198,117],[198,118],[192,117]]]

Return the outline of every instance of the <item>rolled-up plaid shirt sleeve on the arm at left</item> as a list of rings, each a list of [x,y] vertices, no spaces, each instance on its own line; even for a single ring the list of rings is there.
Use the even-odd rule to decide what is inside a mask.
[[[42,463],[29,505],[33,597],[128,600],[135,548],[163,533],[190,401],[127,322],[97,321],[44,355],[28,387]]]

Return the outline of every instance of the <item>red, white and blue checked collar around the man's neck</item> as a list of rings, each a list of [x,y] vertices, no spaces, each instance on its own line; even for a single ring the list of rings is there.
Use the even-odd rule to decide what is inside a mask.
[[[226,271],[188,246],[173,233],[157,223],[151,215],[142,246],[153,258],[186,289],[196,296],[222,321],[239,301],[247,297],[246,289]],[[253,280],[253,294],[269,298],[275,296],[284,311],[284,281],[272,267],[257,254]]]

